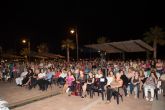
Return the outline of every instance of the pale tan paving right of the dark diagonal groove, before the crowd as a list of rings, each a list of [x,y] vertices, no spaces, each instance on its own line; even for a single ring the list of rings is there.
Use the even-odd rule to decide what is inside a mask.
[[[110,104],[105,104],[105,101],[102,101],[97,96],[93,99],[82,99],[77,96],[58,95],[15,108],[14,110],[151,110],[151,107],[151,102],[129,98],[125,98],[123,103],[117,105],[114,100]]]

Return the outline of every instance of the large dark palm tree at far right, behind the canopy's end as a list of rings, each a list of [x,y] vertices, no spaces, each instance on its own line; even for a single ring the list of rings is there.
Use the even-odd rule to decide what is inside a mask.
[[[165,32],[163,32],[162,28],[155,26],[154,28],[150,28],[150,31],[144,33],[144,40],[147,43],[153,43],[153,57],[157,57],[157,44],[164,45],[165,44]]]

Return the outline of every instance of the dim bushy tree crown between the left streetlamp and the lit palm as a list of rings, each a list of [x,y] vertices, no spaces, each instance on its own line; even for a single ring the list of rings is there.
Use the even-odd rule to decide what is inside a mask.
[[[37,51],[38,51],[38,53],[48,53],[49,47],[48,47],[47,43],[41,43],[40,45],[38,45]]]

